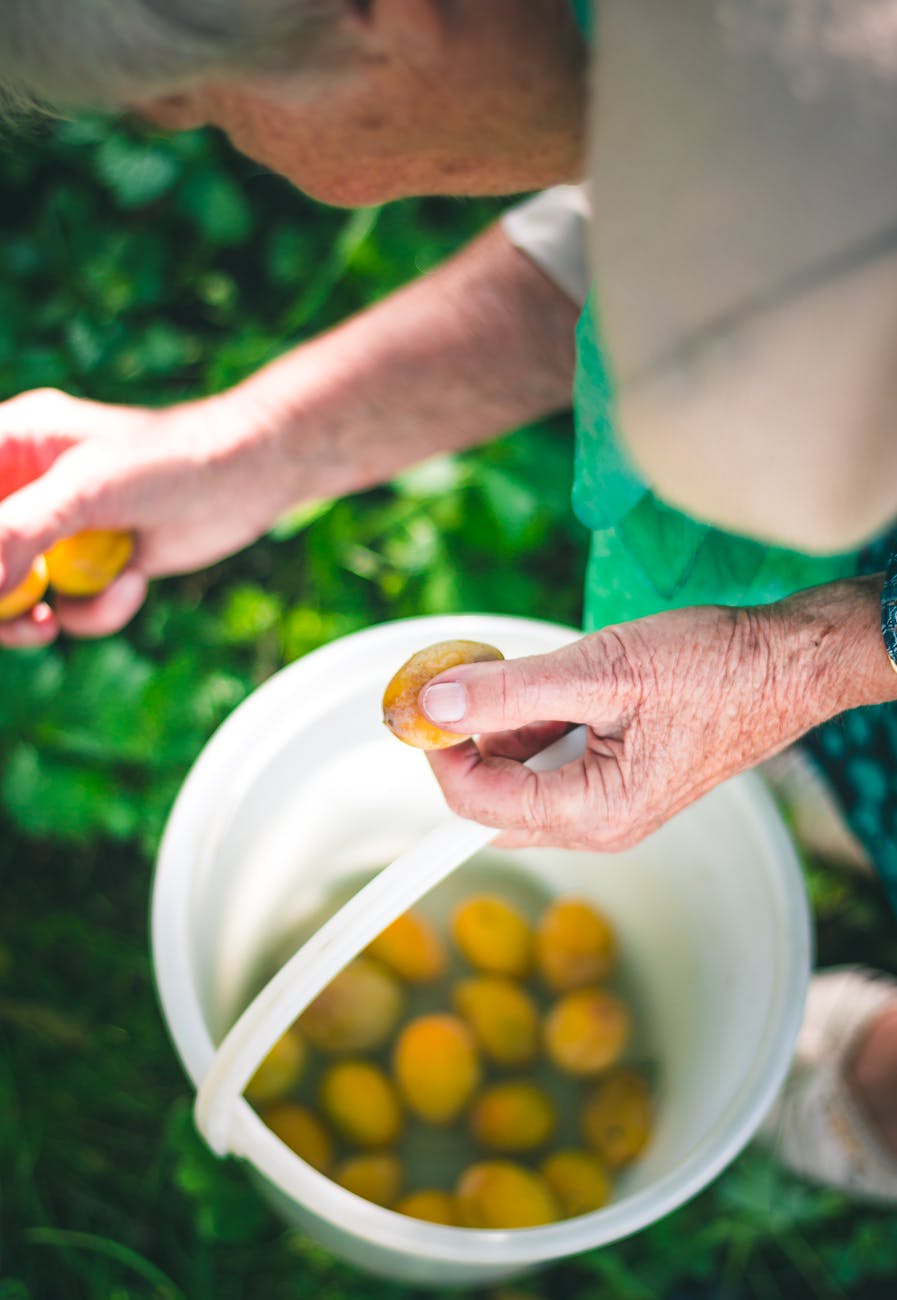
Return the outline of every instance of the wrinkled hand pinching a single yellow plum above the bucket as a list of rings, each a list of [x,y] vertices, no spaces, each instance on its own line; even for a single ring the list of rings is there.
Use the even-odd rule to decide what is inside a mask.
[[[454,811],[504,831],[506,846],[623,849],[806,729],[779,667],[766,610],[658,614],[442,673],[421,707],[478,740],[428,757]],[[571,723],[588,728],[581,759],[523,766]]]

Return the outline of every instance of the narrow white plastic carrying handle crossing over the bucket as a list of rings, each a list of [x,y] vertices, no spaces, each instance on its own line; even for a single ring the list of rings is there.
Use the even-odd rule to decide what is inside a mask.
[[[525,766],[550,772],[580,758],[585,727],[575,727]],[[243,1154],[233,1123],[237,1102],[260,1062],[335,975],[377,935],[498,835],[451,814],[359,889],[250,1002],[222,1039],[200,1084],[196,1127],[217,1156]]]

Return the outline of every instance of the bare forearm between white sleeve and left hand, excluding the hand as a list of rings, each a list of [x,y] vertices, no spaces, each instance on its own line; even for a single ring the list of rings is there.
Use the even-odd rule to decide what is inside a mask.
[[[263,413],[266,451],[290,485],[283,504],[333,497],[568,407],[576,317],[493,226],[233,396]]]

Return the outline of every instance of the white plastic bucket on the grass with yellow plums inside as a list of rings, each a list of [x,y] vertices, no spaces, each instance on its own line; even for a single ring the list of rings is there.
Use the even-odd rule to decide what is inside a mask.
[[[358,883],[445,816],[420,753],[380,720],[415,650],[468,637],[511,656],[578,633],[499,616],[386,624],[308,655],[208,744],[162,841],[152,946],[162,1010],[192,1082],[278,963]],[[542,896],[604,907],[656,1061],[656,1128],[602,1210],[547,1227],[442,1227],[360,1200],[306,1165],[243,1098],[230,1147],[283,1216],[369,1271],[438,1286],[498,1280],[625,1236],[708,1183],[745,1145],[790,1061],[810,970],[806,896],[760,781],[719,786],[621,854],[486,850]],[[451,884],[448,881],[447,884]]]

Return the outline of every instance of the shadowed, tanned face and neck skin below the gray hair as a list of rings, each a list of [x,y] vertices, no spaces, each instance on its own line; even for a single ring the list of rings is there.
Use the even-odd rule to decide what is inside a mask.
[[[221,127],[326,203],[514,194],[577,179],[585,49],[568,0],[346,0],[318,74],[216,83],[139,110]]]

